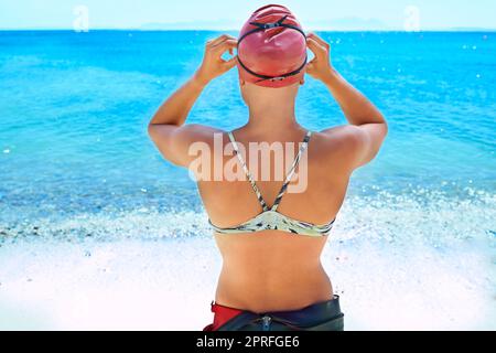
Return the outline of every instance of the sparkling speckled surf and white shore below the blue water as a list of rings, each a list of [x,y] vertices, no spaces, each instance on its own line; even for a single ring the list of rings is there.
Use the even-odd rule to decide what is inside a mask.
[[[323,254],[346,329],[496,329],[495,196],[425,193],[347,200]],[[212,319],[220,257],[205,214],[36,227],[0,247],[0,329],[198,330]]]

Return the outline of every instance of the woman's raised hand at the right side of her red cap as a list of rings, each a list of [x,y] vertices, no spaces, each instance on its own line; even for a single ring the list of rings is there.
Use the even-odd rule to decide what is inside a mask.
[[[331,45],[315,33],[306,36],[306,44],[315,57],[306,65],[306,73],[315,79],[325,81],[333,73]]]

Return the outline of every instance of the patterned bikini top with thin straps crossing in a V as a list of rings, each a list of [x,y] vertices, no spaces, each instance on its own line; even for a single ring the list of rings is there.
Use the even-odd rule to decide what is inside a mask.
[[[288,175],[284,179],[284,183],[282,184],[281,191],[279,192],[272,207],[269,208],[266,201],[263,200],[260,190],[258,189],[257,184],[255,183],[255,180],[248,170],[248,167],[246,165],[241,153],[239,152],[238,145],[234,138],[233,132],[229,132],[229,139],[233,143],[234,153],[238,157],[239,162],[241,163],[242,170],[245,171],[246,176],[248,178],[248,181],[251,184],[251,188],[254,189],[258,201],[260,202],[260,205],[262,206],[263,212],[259,215],[255,216],[250,221],[242,223],[240,225],[228,227],[228,228],[222,228],[217,227],[212,223],[212,221],[208,220],[208,223],[214,228],[216,233],[219,234],[246,234],[246,233],[257,233],[262,231],[282,231],[287,233],[291,233],[294,235],[305,235],[305,236],[326,236],[331,233],[331,229],[333,228],[334,222],[336,218],[334,218],[331,223],[324,224],[324,225],[316,225],[308,222],[302,222],[298,220],[293,220],[291,217],[288,217],[281,213],[278,212],[279,204],[281,203],[282,196],[284,195],[285,191],[288,190],[288,185],[291,182],[292,176],[294,175],[295,169],[298,163],[300,162],[300,159],[303,154],[303,152],[306,150],[310,141],[310,137],[312,136],[312,132],[309,131],[303,140],[303,143],[300,147],[300,150],[296,154],[296,158],[294,159],[293,164],[291,165],[291,169],[288,173]]]

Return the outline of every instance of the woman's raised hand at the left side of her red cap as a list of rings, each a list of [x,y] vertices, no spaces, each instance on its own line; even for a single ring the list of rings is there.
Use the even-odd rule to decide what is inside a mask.
[[[225,61],[222,56],[226,52],[229,52],[229,54],[233,55],[237,44],[238,41],[234,36],[227,34],[223,34],[215,40],[208,41],[205,47],[202,66],[200,66],[195,77],[202,84],[206,85],[212,79],[224,75],[235,67],[237,62],[236,56],[228,61]]]

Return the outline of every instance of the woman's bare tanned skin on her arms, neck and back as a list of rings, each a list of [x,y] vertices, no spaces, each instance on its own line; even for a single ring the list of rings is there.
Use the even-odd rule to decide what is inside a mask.
[[[194,142],[204,142],[212,147],[212,153],[218,153],[214,151],[216,133],[223,136],[224,146],[229,143],[226,131],[185,122],[203,89],[236,66],[236,57],[222,58],[226,52],[233,54],[236,45],[236,39],[229,35],[209,41],[200,68],[165,100],[150,121],[151,139],[172,163],[190,168],[197,158],[190,153]],[[308,64],[306,74],[328,88],[348,124],[313,133],[306,151],[308,188],[302,193],[288,193],[278,212],[295,220],[325,224],[334,220],[342,207],[353,172],[379,152],[388,127],[376,106],[332,66],[330,44],[311,33],[308,46],[315,57]],[[298,148],[308,131],[294,114],[295,98],[303,84],[301,81],[276,89],[240,79],[249,120],[234,131],[238,142],[246,147],[249,142],[294,142]],[[224,161],[231,158],[216,157]],[[272,168],[271,163],[255,165],[247,161],[250,170]],[[206,212],[217,226],[236,226],[261,212],[246,180],[200,181],[197,185]],[[257,180],[257,185],[271,206],[282,181]],[[270,312],[299,310],[333,299],[331,280],[321,264],[327,237],[266,231],[236,236],[215,234],[215,238],[224,260],[215,297],[218,304]]]

